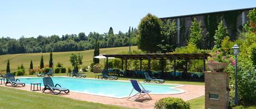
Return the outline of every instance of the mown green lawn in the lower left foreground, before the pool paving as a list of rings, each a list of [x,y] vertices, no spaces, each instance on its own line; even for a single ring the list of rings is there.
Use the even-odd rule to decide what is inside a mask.
[[[0,108],[125,108],[0,86]]]

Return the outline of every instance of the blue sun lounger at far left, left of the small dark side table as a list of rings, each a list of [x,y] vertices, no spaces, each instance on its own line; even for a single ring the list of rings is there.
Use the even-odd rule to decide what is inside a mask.
[[[11,84],[11,86],[13,87],[16,87],[17,85],[22,85],[22,86],[26,85],[24,82],[20,82],[19,79],[15,80],[14,74],[12,73],[7,73],[5,78],[6,78],[5,86],[7,86],[7,84]]]

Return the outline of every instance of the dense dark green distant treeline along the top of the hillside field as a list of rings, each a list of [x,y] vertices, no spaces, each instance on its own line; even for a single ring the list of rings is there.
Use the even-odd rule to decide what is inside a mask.
[[[108,33],[99,34],[90,32],[87,36],[85,33],[38,37],[20,37],[20,39],[11,39],[10,37],[2,37],[0,39],[0,54],[16,54],[16,53],[41,53],[41,52],[69,52],[93,49],[96,39],[98,39],[100,48],[123,47],[136,45],[138,30],[130,29],[126,33],[119,31],[114,34],[110,27]],[[130,41],[131,37],[131,41]]]

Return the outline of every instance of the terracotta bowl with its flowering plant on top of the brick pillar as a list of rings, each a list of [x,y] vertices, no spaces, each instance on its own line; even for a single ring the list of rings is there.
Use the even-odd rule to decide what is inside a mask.
[[[210,53],[211,56],[208,57],[206,62],[207,67],[212,72],[223,72],[230,62],[233,62],[233,58],[230,55],[224,56],[221,52]]]

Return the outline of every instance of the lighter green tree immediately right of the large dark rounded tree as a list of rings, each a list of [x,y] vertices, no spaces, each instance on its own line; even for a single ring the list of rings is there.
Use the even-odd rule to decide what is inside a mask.
[[[164,36],[162,44],[159,44],[162,53],[173,52],[176,48],[176,40],[174,40],[175,32],[177,30],[176,24],[174,21],[165,20],[165,24],[162,25],[161,34]]]

